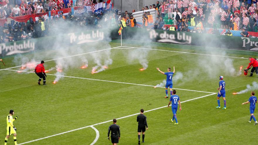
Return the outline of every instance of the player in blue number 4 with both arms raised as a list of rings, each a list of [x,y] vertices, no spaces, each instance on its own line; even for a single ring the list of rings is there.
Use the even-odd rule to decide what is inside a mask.
[[[167,75],[167,83],[166,83],[166,88],[165,88],[165,91],[166,91],[166,96],[165,98],[168,98],[168,91],[167,91],[167,88],[169,87],[170,88],[170,96],[172,96],[172,88],[173,88],[173,81],[172,81],[172,77],[173,77],[173,74],[175,73],[175,66],[174,66],[174,71],[171,72],[171,68],[168,68],[167,71],[168,72],[163,72],[161,70],[159,70],[159,68],[157,67],[157,70],[161,73],[161,74],[164,74],[164,75]]]

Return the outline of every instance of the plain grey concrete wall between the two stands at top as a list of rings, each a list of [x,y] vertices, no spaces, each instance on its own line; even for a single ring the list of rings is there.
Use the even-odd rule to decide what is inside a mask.
[[[158,0],[114,0],[114,8],[120,9],[122,12],[128,11],[128,13],[132,13],[133,9],[140,11],[142,7],[149,7],[152,4],[156,4],[157,1]]]

